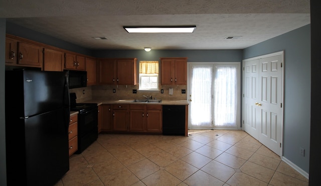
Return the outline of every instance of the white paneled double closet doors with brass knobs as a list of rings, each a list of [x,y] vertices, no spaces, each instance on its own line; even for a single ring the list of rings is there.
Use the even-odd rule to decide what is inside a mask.
[[[283,52],[243,60],[243,129],[281,156]]]

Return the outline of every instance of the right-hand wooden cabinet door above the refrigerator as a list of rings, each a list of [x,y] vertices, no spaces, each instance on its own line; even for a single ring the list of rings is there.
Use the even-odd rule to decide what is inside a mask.
[[[43,48],[37,45],[18,42],[18,64],[42,67]]]

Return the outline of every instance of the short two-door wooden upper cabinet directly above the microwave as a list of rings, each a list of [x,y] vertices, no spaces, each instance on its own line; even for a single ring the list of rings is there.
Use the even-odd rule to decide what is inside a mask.
[[[84,56],[65,53],[65,69],[86,70],[85,61]]]

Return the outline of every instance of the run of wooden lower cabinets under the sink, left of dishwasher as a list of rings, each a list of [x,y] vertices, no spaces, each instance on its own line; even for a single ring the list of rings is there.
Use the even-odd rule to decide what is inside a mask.
[[[162,133],[162,105],[102,104],[98,106],[98,132]]]

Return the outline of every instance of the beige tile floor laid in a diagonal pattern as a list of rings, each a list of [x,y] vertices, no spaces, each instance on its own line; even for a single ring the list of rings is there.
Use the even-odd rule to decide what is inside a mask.
[[[189,137],[99,134],[56,186],[308,185],[308,179],[242,130]]]

